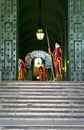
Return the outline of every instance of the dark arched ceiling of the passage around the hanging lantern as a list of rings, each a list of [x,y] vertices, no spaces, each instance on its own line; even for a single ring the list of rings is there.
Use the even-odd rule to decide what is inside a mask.
[[[41,19],[44,32],[48,31],[51,49],[55,41],[63,41],[63,30],[67,30],[67,1],[41,0]],[[46,34],[37,40],[39,0],[19,0],[19,57],[24,58],[33,50],[48,51]]]

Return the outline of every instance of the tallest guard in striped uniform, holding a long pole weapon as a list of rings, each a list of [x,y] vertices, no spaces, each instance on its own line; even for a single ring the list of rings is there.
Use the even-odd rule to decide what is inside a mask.
[[[62,80],[62,49],[60,47],[60,42],[55,43],[55,50],[52,52],[50,48],[48,49],[49,54],[52,56],[53,59],[53,66],[56,80]]]

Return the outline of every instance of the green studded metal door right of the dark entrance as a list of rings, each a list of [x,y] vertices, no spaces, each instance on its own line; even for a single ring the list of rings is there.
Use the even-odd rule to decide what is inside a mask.
[[[68,79],[84,80],[84,0],[68,0]]]

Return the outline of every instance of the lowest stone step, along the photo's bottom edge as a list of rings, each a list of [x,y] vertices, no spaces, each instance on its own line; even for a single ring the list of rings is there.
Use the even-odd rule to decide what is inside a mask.
[[[18,125],[18,126],[2,126],[4,130],[84,130],[84,127],[81,125],[69,126],[69,125]]]

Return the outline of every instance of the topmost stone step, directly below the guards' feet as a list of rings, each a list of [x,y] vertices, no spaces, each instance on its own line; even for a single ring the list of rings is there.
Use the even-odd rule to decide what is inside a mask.
[[[83,87],[84,86],[84,82],[75,82],[75,81],[60,81],[60,82],[54,82],[54,81],[51,81],[51,82],[37,82],[37,81],[0,81],[0,86],[5,86],[5,87],[27,87],[27,86],[30,86],[30,87],[41,87],[41,86],[46,86],[46,87],[53,87],[53,86],[56,86],[56,87],[59,87],[59,86],[65,86],[65,87]]]

